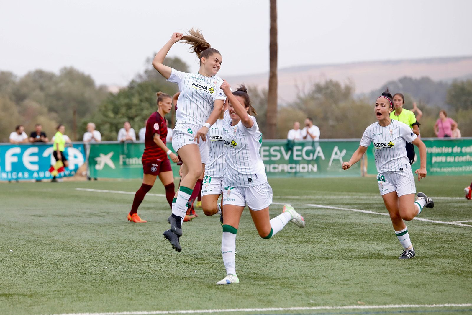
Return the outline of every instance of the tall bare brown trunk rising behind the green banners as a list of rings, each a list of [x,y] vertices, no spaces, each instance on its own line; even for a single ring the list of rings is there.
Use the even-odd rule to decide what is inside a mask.
[[[274,139],[277,132],[277,0],[270,0],[269,93],[267,97],[266,136]]]

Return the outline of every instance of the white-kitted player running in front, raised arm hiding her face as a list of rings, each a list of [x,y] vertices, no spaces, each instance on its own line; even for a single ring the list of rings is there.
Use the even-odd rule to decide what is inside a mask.
[[[272,188],[259,149],[262,134],[251,106],[246,88],[241,86],[231,93],[228,82],[221,85],[228,97],[228,110],[223,119],[223,140],[226,167],[223,192],[223,237],[221,252],[226,267],[226,277],[216,284],[239,283],[236,275],[235,250],[236,232],[244,207],[249,207],[254,225],[261,238],[271,238],[282,230],[288,221],[300,228],[305,226],[303,217],[290,205],[283,207],[283,213],[270,220],[269,205],[272,203]],[[244,104],[244,105],[243,105]]]

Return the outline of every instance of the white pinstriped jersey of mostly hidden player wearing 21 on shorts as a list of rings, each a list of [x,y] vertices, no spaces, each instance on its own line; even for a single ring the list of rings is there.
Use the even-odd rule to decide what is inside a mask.
[[[209,162],[205,165],[205,175],[211,177],[224,176],[225,145],[223,141],[223,119],[218,119],[208,131],[210,140]]]

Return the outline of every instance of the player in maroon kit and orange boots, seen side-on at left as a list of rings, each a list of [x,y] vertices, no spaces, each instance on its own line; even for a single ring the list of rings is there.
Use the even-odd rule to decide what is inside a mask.
[[[142,158],[143,185],[136,192],[133,206],[128,213],[128,221],[136,223],[147,222],[139,217],[137,211],[144,196],[151,190],[158,176],[166,188],[166,198],[171,209],[172,199],[175,195],[174,175],[172,174],[169,158],[175,163],[179,161],[177,155],[172,153],[166,146],[167,123],[164,118],[172,109],[172,97],[162,92],[158,92],[156,95],[159,108],[149,116],[146,122],[145,149]]]

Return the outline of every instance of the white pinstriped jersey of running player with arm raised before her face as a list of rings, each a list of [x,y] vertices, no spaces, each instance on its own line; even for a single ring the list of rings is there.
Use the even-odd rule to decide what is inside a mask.
[[[225,145],[226,167],[225,186],[253,187],[267,182],[267,175],[259,149],[262,134],[255,117],[251,128],[244,127],[240,121],[231,126],[229,112],[225,111],[223,119],[223,140]]]

